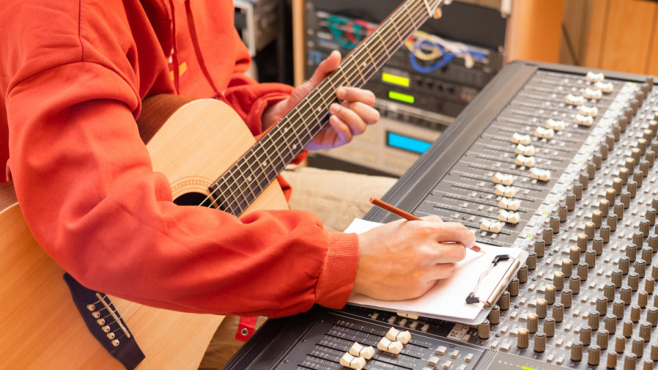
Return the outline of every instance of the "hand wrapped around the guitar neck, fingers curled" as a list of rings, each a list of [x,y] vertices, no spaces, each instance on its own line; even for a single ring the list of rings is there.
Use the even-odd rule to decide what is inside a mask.
[[[341,63],[341,53],[332,51],[330,56],[323,60],[313,77],[293,90],[288,99],[282,100],[267,108],[263,113],[263,130],[277,123],[281,117],[295,104],[304,99],[306,95],[315,88],[322,80],[335,71]],[[329,149],[350,143],[356,135],[363,134],[367,125],[379,121],[379,112],[372,108],[375,103],[375,95],[369,90],[342,86],[338,89],[336,96],[343,101],[342,104],[333,103],[329,112],[329,124],[326,125],[306,149]]]

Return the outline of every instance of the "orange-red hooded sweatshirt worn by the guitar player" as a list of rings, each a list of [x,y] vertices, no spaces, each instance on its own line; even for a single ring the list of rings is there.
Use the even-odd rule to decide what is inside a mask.
[[[291,88],[242,74],[233,11],[229,0],[5,0],[0,160],[36,240],[89,288],[189,312],[341,307],[355,234],[304,211],[176,206],[138,136],[142,99],[176,92],[219,95],[260,133]]]

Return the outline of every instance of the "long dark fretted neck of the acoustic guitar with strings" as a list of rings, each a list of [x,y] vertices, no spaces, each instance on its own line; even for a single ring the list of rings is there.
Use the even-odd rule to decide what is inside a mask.
[[[241,184],[242,189],[248,187],[247,191],[218,192],[224,194],[223,198],[215,199],[219,208],[236,216],[242,214],[328,123],[329,106],[338,101],[338,88],[363,86],[442,1],[406,0],[393,11],[343,59],[336,71],[311,90],[213,184],[211,190],[231,190],[236,184]]]

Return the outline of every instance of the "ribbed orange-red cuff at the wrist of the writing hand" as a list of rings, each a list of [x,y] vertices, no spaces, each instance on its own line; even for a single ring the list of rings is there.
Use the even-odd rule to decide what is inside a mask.
[[[358,236],[330,232],[327,240],[329,247],[317,277],[315,303],[328,308],[343,308],[356,279]]]

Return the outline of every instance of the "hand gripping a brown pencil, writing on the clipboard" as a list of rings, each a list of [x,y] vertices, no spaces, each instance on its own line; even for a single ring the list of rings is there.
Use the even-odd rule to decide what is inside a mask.
[[[461,223],[436,216],[423,220],[393,221],[359,234],[354,293],[387,301],[412,299],[452,276],[475,236]]]

